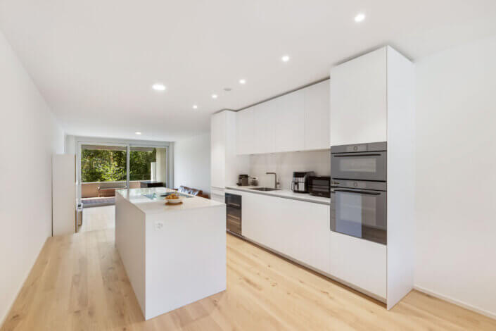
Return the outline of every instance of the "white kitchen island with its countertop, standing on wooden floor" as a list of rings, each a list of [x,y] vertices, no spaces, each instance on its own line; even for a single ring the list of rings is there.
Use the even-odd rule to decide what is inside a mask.
[[[145,320],[226,289],[225,204],[167,206],[166,192],[115,191],[115,245]]]

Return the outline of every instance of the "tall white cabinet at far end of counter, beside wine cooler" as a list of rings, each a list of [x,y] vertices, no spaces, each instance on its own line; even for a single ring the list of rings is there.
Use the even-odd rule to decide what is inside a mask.
[[[234,111],[221,111],[210,118],[211,194],[220,202],[224,202],[225,187],[234,185],[239,173],[248,173],[248,156],[236,156],[236,127]]]

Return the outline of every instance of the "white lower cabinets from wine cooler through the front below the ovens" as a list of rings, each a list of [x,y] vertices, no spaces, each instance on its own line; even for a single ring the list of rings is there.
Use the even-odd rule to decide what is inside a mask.
[[[329,205],[229,192],[243,197],[243,237],[386,301],[386,246],[332,232]]]

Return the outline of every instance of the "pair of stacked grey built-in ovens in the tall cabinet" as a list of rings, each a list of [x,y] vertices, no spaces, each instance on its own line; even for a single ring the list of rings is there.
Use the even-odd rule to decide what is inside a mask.
[[[387,244],[387,144],[331,146],[331,230]]]

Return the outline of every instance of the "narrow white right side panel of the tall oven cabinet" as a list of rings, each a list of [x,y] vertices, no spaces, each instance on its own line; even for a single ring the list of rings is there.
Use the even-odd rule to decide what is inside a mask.
[[[415,73],[388,46],[388,309],[414,285]]]

